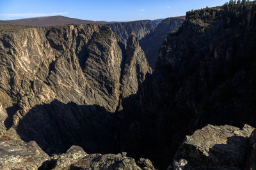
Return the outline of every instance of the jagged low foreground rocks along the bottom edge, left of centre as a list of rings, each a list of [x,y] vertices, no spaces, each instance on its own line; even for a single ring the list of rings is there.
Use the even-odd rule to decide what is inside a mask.
[[[138,165],[135,160],[127,157],[126,153],[118,154],[88,154],[79,146],[72,146],[66,153],[54,155],[51,159],[44,162],[39,168],[44,169],[145,169],[154,170],[152,162],[141,158]]]

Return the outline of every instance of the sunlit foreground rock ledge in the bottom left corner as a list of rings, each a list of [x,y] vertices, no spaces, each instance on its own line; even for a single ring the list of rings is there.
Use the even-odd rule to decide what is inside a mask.
[[[37,169],[49,156],[35,141],[4,141],[0,143],[1,169]]]

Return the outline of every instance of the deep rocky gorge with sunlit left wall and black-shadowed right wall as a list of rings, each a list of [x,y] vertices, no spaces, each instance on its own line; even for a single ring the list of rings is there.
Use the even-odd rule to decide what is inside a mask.
[[[140,43],[156,31],[146,40],[132,32],[125,42],[102,24],[1,32],[1,140],[36,141],[49,155],[73,145],[89,154],[127,152],[166,169],[196,129],[256,127],[256,7],[244,6],[236,20],[227,8],[172,21],[181,27],[164,38],[154,71]],[[248,143],[253,130],[245,127],[230,140]]]

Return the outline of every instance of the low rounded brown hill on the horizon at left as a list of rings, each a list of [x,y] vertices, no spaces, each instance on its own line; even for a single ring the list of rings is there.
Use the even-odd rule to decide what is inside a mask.
[[[69,18],[64,16],[51,16],[51,17],[36,17],[36,18],[24,18],[19,20],[6,20],[12,24],[19,25],[32,25],[32,26],[55,26],[55,25],[67,25],[67,24],[92,24],[92,23],[106,23],[97,22],[92,20],[80,20],[77,18]]]

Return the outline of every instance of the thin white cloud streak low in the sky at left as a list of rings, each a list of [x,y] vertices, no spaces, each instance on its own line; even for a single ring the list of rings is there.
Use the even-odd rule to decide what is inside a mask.
[[[55,13],[0,13],[0,17],[20,17],[20,18],[32,18],[32,17],[46,17],[52,15],[65,15],[67,12],[55,12]]]

